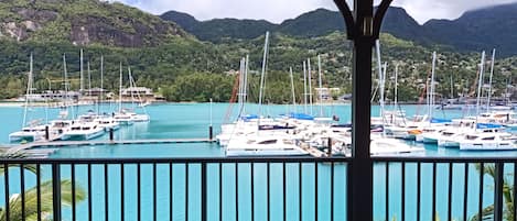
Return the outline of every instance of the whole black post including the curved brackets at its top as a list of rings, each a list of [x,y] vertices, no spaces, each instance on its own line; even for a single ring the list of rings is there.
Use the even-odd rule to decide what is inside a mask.
[[[373,0],[354,0],[354,11],[345,0],[334,0],[353,42],[352,162],[347,170],[347,220],[374,219],[374,167],[370,157],[371,55],[380,24],[392,0],[383,0],[374,18]]]

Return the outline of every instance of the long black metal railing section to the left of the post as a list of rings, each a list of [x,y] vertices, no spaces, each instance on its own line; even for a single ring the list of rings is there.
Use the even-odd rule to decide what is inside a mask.
[[[9,169],[2,174],[0,194],[6,220],[25,220],[31,214],[37,214],[37,220],[50,214],[53,220],[343,220],[347,162],[310,157],[1,159]],[[36,168],[34,175],[28,174],[28,167]],[[45,180],[52,180],[50,211],[42,207],[49,200],[43,197],[49,194],[42,186]],[[37,189],[37,203],[25,199],[29,187]],[[13,198],[14,194],[21,198]]]

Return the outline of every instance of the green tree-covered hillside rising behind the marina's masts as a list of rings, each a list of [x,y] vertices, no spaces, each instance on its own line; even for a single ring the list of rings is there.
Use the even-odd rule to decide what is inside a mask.
[[[125,74],[131,67],[138,86],[150,87],[171,101],[207,101],[209,98],[228,101],[236,78],[231,73],[239,68],[239,59],[249,55],[249,99],[254,101],[258,98],[263,33],[248,40],[227,37],[218,43],[200,42],[172,22],[161,21],[158,16],[120,3],[96,0],[8,0],[0,2],[0,84],[4,86],[0,90],[0,98],[13,98],[24,92],[31,53],[34,55],[35,86],[39,90],[63,87],[60,82],[63,78],[63,54],[66,55],[72,88],[78,89],[80,48],[85,51],[85,71],[87,62],[90,63],[93,87],[100,85],[100,57],[104,56],[105,88],[118,90],[121,63]],[[24,16],[26,13],[32,15]],[[33,19],[39,29],[28,31],[28,18],[35,18],[34,14],[41,16]],[[187,16],[184,19],[189,20]],[[18,32],[22,34],[9,34],[7,27],[12,23],[22,30]],[[77,24],[80,25],[77,27]],[[80,32],[74,31],[77,29]],[[118,36],[132,36],[129,37],[133,40],[131,46],[127,45],[125,37]],[[317,55],[322,57],[324,86],[342,88],[341,95],[351,91],[351,43],[344,33],[330,32],[312,37],[273,33],[270,43],[266,86],[268,102],[290,102],[290,67],[294,73],[297,97],[299,100],[302,98],[302,62],[308,58],[311,59],[313,70],[312,85],[316,86]],[[388,79],[394,76],[395,65],[399,65],[399,100],[416,101],[420,98],[431,71],[433,51],[439,53],[437,91],[443,97],[472,91],[481,59],[480,52],[457,53],[451,47],[422,46],[391,34],[383,34],[381,59],[388,63]],[[515,57],[496,60],[496,95],[504,91],[505,82],[511,78],[516,67]],[[489,63],[486,63],[485,70],[488,73]],[[374,78],[378,76],[376,71]],[[450,95],[451,77],[454,95]],[[513,82],[515,80],[514,77]],[[392,97],[392,80],[388,82],[388,98]]]

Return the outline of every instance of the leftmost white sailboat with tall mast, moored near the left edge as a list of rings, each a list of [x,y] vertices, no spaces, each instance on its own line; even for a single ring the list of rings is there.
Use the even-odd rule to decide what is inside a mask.
[[[22,130],[17,131],[9,134],[10,142],[33,142],[44,137],[45,135],[45,125],[41,124],[39,121],[30,121],[28,122],[28,111],[30,110],[31,102],[32,102],[32,93],[33,93],[33,62],[32,62],[32,54],[31,54],[31,62],[30,62],[30,70],[28,76],[28,84],[26,84],[26,93],[25,93],[25,104],[23,109],[23,123]]]

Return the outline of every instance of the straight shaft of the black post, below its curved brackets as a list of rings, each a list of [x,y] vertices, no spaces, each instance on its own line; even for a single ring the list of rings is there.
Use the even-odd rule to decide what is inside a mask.
[[[373,220],[373,162],[370,158],[370,37],[354,40],[352,97],[352,164],[348,166],[348,220]]]

